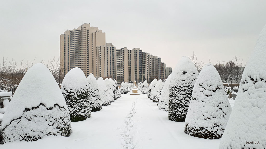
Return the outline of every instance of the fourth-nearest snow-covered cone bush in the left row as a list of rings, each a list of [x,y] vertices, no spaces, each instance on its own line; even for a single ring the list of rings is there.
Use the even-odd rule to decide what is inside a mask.
[[[102,105],[103,106],[108,106],[111,104],[108,92],[107,92],[107,87],[105,85],[105,81],[103,80],[102,77],[99,77],[97,80],[98,84],[98,89],[100,91],[101,99],[102,99]]]

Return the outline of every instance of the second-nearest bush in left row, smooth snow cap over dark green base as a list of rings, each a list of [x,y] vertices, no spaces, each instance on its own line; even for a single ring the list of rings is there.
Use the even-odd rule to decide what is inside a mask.
[[[68,107],[71,122],[83,121],[90,117],[88,81],[80,68],[73,68],[65,75],[61,91]]]

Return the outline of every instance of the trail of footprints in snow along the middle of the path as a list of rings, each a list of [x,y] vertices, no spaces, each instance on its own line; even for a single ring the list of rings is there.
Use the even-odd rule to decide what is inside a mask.
[[[134,122],[133,122],[133,117],[136,113],[135,111],[135,104],[136,104],[137,100],[135,99],[135,101],[132,103],[132,107],[130,110],[130,113],[126,116],[125,119],[125,131],[122,132],[121,137],[124,141],[123,147],[125,149],[134,149],[135,145],[132,143],[133,137],[131,135],[131,129],[134,126]]]

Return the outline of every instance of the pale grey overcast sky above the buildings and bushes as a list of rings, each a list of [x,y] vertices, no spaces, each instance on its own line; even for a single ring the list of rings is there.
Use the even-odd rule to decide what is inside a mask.
[[[141,48],[168,67],[196,52],[203,62],[246,62],[266,24],[265,0],[1,1],[0,57],[59,58],[60,34],[83,23],[117,48]]]

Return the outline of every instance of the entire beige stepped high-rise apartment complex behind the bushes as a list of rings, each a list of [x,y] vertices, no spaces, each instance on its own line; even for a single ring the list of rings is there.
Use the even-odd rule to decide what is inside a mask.
[[[60,61],[64,62],[65,74],[79,67],[88,76],[112,77],[118,84],[136,80],[151,82],[154,78],[164,79],[165,64],[158,56],[143,52],[140,48],[117,49],[105,42],[105,33],[90,24],[66,30],[60,35]]]

